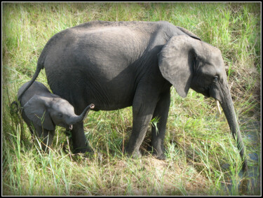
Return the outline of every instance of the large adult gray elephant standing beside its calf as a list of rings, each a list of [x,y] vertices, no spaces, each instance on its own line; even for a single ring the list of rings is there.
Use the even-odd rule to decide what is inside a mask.
[[[170,106],[170,87],[181,97],[189,88],[220,101],[238,149],[246,160],[241,132],[219,49],[187,29],[169,22],[87,22],[55,34],[39,57],[51,90],[81,113],[91,102],[95,111],[133,106],[133,131],[126,153],[140,156],[149,121],[151,146],[164,159],[163,139]],[[92,93],[92,94],[90,94]],[[90,151],[83,123],[74,125],[75,152]]]

